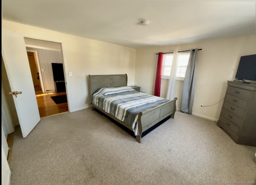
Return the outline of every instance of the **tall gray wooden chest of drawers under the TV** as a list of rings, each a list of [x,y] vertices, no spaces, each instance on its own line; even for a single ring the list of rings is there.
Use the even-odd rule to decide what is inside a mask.
[[[256,146],[256,83],[228,81],[217,125],[236,143]]]

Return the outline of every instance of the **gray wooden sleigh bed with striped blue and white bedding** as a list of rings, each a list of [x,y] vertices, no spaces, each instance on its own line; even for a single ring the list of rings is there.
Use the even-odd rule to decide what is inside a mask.
[[[160,121],[174,119],[177,98],[137,92],[127,86],[127,74],[89,75],[89,79],[92,109],[132,130],[139,143],[142,133]]]

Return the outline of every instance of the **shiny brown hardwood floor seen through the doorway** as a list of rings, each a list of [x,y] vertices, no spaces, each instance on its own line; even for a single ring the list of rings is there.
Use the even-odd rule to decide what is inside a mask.
[[[68,111],[68,103],[56,104],[51,98],[51,96],[64,95],[66,92],[43,93],[38,86],[35,86],[35,92],[40,117],[46,117]]]

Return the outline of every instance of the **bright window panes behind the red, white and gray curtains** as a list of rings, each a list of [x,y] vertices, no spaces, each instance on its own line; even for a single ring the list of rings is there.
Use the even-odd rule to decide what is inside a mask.
[[[180,52],[177,54],[164,54],[163,56],[163,64],[162,64],[162,78],[169,79],[170,73],[172,71],[172,66],[174,66],[174,55],[177,56],[177,68],[176,68],[176,80],[184,80],[188,59],[190,56],[190,52]]]

